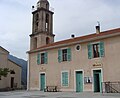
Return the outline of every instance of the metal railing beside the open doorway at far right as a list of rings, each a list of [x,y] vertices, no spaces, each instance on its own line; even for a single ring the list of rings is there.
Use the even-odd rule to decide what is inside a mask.
[[[102,93],[120,93],[120,82],[102,82]]]

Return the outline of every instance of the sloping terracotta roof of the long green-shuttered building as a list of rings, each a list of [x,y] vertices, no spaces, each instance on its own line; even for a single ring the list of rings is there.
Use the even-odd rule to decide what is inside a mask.
[[[39,50],[39,49],[49,48],[49,47],[52,47],[52,46],[54,47],[54,46],[58,46],[58,45],[62,45],[62,44],[69,44],[69,43],[73,43],[73,42],[77,42],[77,41],[92,39],[92,38],[96,38],[96,37],[103,37],[103,36],[106,36],[106,35],[112,35],[112,34],[116,34],[116,33],[120,33],[120,28],[112,29],[112,30],[108,30],[108,31],[103,31],[103,32],[100,32],[99,34],[94,33],[94,34],[89,34],[89,35],[85,35],[85,36],[80,36],[80,37],[75,37],[75,38],[70,38],[70,39],[67,39],[67,40],[54,42],[54,43],[39,47],[37,49],[30,50],[29,52]]]

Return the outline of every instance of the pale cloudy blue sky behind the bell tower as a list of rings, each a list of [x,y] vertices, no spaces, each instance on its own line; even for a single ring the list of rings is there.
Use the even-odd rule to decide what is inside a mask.
[[[27,59],[32,33],[32,9],[38,0],[0,0],[0,45]],[[120,0],[49,0],[54,8],[55,41],[120,27]]]

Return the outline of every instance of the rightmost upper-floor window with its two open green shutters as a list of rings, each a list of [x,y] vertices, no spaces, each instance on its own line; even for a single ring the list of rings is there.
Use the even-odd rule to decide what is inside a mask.
[[[104,42],[88,44],[88,58],[104,57]]]

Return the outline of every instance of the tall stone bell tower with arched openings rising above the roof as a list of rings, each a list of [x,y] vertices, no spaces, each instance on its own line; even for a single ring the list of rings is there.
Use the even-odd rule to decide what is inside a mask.
[[[30,50],[54,42],[53,12],[49,10],[47,0],[39,0],[37,8],[32,12],[32,34],[30,35]]]

